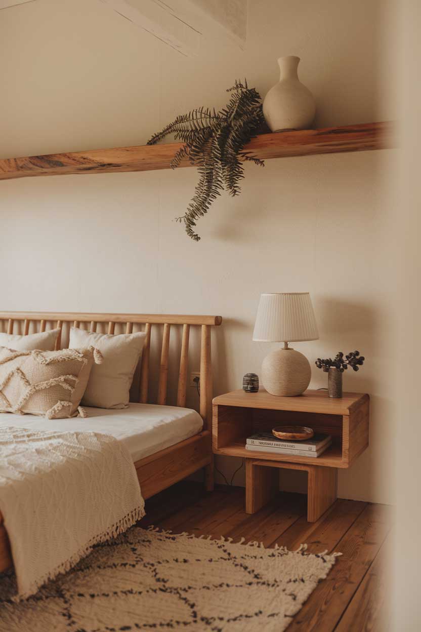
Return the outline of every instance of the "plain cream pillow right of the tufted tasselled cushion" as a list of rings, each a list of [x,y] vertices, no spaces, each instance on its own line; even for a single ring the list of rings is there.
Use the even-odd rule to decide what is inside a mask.
[[[141,357],[145,332],[136,334],[95,334],[71,327],[69,348],[93,346],[104,358],[92,372],[82,399],[83,406],[127,408],[133,375]]]

